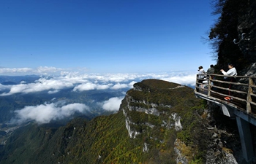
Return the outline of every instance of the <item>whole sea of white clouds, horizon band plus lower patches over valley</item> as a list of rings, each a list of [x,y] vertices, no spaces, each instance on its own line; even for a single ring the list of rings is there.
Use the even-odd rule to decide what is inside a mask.
[[[39,93],[47,91],[48,94],[58,93],[60,90],[70,88],[72,92],[85,90],[129,90],[136,82],[143,79],[162,79],[168,82],[176,82],[181,85],[195,86],[197,72],[175,71],[168,73],[148,74],[80,74],[54,67],[39,67],[37,69],[0,69],[0,75],[6,74],[40,74],[43,75],[34,82],[20,82],[18,85],[1,85],[0,96],[8,96],[19,93]],[[122,91],[120,91],[122,92]],[[117,111],[124,97],[110,98],[108,101],[99,102],[102,109]],[[47,123],[50,120],[59,120],[69,117],[74,112],[83,113],[89,107],[85,104],[59,104],[45,103],[37,106],[25,106],[15,111],[16,120],[24,122],[35,120],[39,123]]]

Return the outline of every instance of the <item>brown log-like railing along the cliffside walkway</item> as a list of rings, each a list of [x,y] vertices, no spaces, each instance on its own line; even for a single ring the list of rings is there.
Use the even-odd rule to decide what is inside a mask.
[[[199,77],[204,76],[203,79]],[[195,93],[234,104],[247,113],[256,114],[256,77],[197,74]],[[225,101],[225,97],[232,101]]]

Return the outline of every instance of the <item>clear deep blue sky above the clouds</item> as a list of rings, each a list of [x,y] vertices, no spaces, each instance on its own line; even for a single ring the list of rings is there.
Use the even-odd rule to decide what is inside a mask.
[[[211,12],[210,0],[2,0],[0,75],[208,69],[216,62],[201,37],[214,24]]]

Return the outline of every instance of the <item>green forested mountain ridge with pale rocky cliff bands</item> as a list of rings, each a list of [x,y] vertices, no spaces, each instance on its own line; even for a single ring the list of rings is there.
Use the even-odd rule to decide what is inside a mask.
[[[236,163],[232,134],[209,124],[206,106],[190,87],[146,79],[116,114],[20,128],[0,163]]]

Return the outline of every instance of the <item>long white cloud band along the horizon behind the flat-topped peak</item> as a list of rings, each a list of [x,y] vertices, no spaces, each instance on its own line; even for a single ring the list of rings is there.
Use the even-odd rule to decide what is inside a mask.
[[[195,85],[195,72],[173,72],[162,74],[76,74],[41,77],[32,83],[20,82],[18,85],[1,85],[0,96],[16,93],[36,93],[47,90],[49,94],[72,88],[74,92],[85,90],[118,90],[132,88],[135,82],[143,79],[162,79],[181,85]]]

